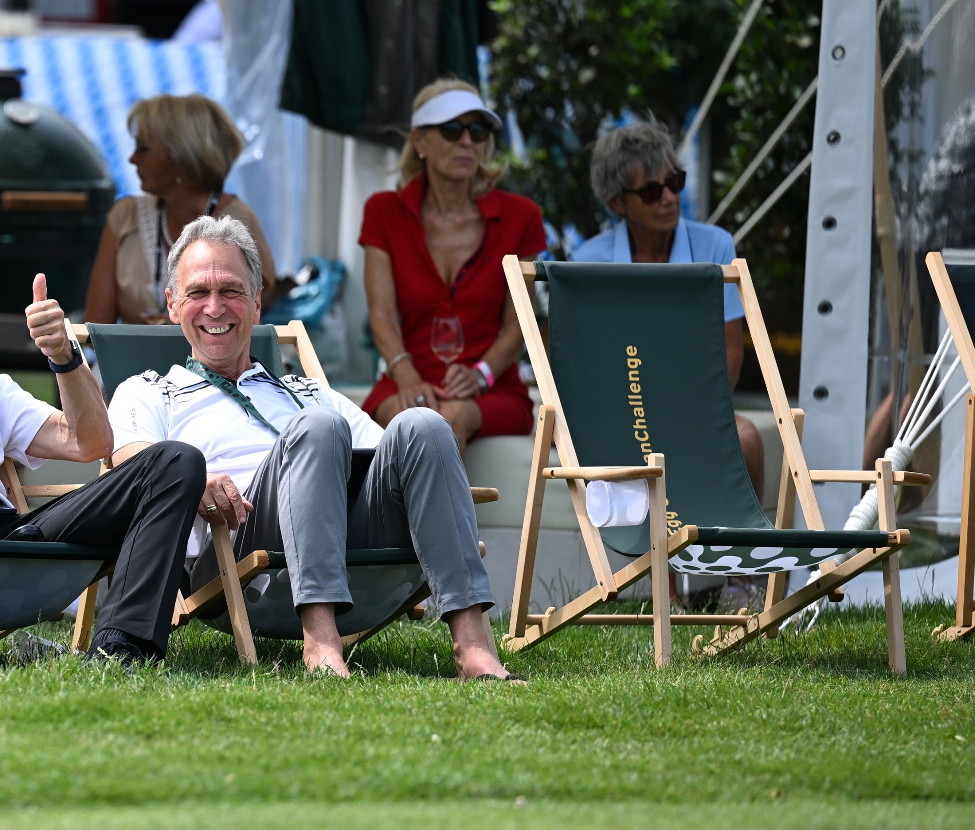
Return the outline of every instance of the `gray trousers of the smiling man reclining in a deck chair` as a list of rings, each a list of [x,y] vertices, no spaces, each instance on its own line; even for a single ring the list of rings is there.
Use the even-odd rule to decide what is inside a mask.
[[[494,604],[477,541],[477,520],[457,441],[432,409],[397,415],[376,447],[366,482],[347,504],[349,425],[332,409],[294,415],[254,475],[245,498],[254,512],[238,531],[238,559],[285,551],[295,607],[333,602],[352,608],[345,549],[416,550],[440,614]],[[197,559],[193,590],[218,574],[213,547]]]

